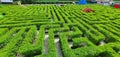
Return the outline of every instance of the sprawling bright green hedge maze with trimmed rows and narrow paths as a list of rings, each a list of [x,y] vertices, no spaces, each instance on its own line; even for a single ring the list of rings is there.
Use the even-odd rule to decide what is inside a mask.
[[[119,9],[10,5],[0,13],[0,57],[120,57]]]

